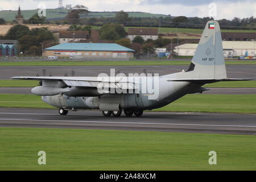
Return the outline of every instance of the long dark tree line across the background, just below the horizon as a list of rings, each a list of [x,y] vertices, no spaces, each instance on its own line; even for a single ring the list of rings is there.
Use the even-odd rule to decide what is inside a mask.
[[[47,20],[45,17],[39,17],[34,14],[31,18],[24,20],[24,23],[55,23],[55,24],[89,24],[91,26],[102,26],[105,23],[122,23],[124,26],[144,26],[144,27],[177,27],[177,28],[203,28],[205,23],[213,20],[211,17],[186,17],[186,16],[171,16],[165,17],[129,17],[125,11],[119,11],[115,17],[88,17],[88,7],[76,5],[75,9],[70,10],[63,19]],[[14,20],[15,21],[15,20]],[[0,24],[4,24],[5,20],[0,18]],[[218,20],[222,29],[241,29],[241,30],[256,30],[256,18],[237,18],[232,20]]]

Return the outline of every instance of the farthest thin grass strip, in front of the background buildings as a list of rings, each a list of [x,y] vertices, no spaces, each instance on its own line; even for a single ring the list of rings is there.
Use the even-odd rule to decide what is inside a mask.
[[[191,61],[0,61],[0,66],[125,66],[125,65],[189,65]],[[256,61],[225,61],[228,65],[255,65]]]

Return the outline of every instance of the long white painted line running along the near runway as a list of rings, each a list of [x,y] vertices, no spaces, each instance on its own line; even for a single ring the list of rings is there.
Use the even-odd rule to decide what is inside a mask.
[[[0,118],[0,120],[7,121],[51,121],[51,122],[85,122],[85,123],[125,123],[137,125],[182,125],[182,126],[224,126],[224,127],[256,127],[248,125],[203,125],[203,124],[180,124],[180,123],[141,123],[141,122],[114,122],[114,121],[68,121],[68,120],[51,120],[51,119],[10,119]]]

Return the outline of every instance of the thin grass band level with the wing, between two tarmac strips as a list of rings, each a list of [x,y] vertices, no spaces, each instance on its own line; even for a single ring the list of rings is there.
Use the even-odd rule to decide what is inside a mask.
[[[0,87],[32,87],[37,86],[39,81],[34,80],[0,80]],[[255,88],[256,81],[223,81],[206,84],[205,87],[249,87]]]

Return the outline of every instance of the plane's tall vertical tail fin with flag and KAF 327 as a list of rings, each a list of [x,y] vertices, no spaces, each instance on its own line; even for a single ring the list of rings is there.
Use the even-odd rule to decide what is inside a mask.
[[[196,48],[187,72],[193,71],[196,78],[226,78],[220,26],[209,21]]]

